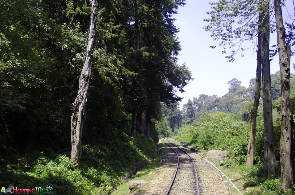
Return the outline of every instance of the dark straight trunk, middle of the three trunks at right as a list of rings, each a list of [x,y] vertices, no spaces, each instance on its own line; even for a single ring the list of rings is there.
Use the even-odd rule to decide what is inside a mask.
[[[276,147],[273,138],[273,113],[270,83],[269,61],[269,1],[265,6],[264,20],[261,35],[262,55],[262,95],[263,95],[263,119],[264,119],[264,159],[263,168],[270,179],[276,170]]]

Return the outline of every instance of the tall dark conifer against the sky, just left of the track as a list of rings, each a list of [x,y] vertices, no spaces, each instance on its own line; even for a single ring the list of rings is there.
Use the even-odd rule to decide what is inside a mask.
[[[171,14],[176,14],[178,6],[183,6],[184,1],[137,0],[132,4],[135,7],[132,15],[135,38],[132,43],[138,49],[132,49],[135,57],[126,64],[132,65],[132,71],[137,74],[135,81],[140,81],[138,86],[143,92],[141,94],[147,97],[144,104],[134,103],[132,132],[136,131],[136,123],[139,123],[144,133],[148,132],[145,129],[152,119],[160,117],[160,102],[169,105],[180,101],[182,98],[176,96],[175,88],[183,92],[183,87],[192,78],[187,67],[178,65],[175,57],[180,44],[176,37],[178,29],[173,24]],[[142,96],[134,98],[137,99],[142,99]],[[136,112],[140,113],[139,119],[135,119]]]

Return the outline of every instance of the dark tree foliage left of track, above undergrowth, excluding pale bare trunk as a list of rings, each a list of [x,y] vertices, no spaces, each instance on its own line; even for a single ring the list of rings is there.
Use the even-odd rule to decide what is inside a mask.
[[[181,99],[174,90],[183,91],[192,78],[185,65],[177,64],[181,48],[171,13],[183,5],[183,0],[98,2],[83,143],[129,134],[133,108],[147,109],[147,120],[160,120],[160,102]],[[0,3],[2,148],[70,147],[69,121],[90,13],[89,2],[81,0]],[[134,49],[135,19],[141,21],[140,49]]]

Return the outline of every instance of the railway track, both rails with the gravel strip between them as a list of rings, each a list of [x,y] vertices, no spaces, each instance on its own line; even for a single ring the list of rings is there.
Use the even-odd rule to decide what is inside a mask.
[[[163,141],[164,142],[165,141],[169,142],[168,141],[168,138],[163,138]],[[178,147],[177,145],[175,145],[175,144],[173,144],[171,142],[169,142],[169,144],[170,144],[169,145],[167,142],[165,142],[167,144],[167,146],[169,146],[175,152],[175,154],[177,154],[177,166],[176,166],[176,169],[175,169],[174,176],[173,176],[173,178],[171,180],[171,183],[170,183],[169,188],[167,189],[167,192],[166,192],[165,195],[168,195],[171,191],[173,191],[174,188],[175,189],[176,188],[184,188],[184,187],[189,188],[189,186],[188,186],[189,184],[186,184],[186,183],[183,184],[182,182],[180,182],[181,180],[184,180],[183,182],[190,181],[191,178],[189,178],[189,175],[191,175],[191,177],[194,177],[195,176],[195,180],[196,180],[195,185],[191,184],[191,185],[193,185],[191,187],[194,190],[194,193],[193,194],[199,195],[200,194],[199,193],[199,181],[198,181],[198,174],[197,174],[197,170],[196,170],[196,166],[195,166],[194,160],[191,158],[191,156],[185,150],[183,150],[182,148]],[[187,160],[188,158],[187,157],[185,158],[183,155],[188,155],[191,162],[189,163],[189,160]],[[193,169],[194,176],[192,176],[192,174],[189,173],[189,172],[192,172],[192,170],[187,170],[187,167],[189,166],[188,163],[193,165],[193,167],[191,166],[191,169]],[[179,176],[180,178],[178,179],[178,184],[181,184],[184,187],[183,186],[173,186],[174,185],[175,178],[178,176],[179,166],[184,166],[184,165],[186,167],[183,167],[182,168],[181,171],[183,173],[181,173],[181,174],[188,176],[188,178],[186,180],[186,178],[181,178],[181,176]],[[175,190],[175,191],[177,191],[177,190]]]

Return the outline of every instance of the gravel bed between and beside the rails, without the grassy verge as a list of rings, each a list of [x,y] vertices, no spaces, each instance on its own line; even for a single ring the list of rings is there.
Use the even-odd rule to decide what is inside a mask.
[[[169,139],[169,141],[171,141],[171,139]],[[157,168],[156,173],[153,174],[151,180],[148,181],[148,185],[135,193],[136,195],[162,195],[166,193],[171,183],[172,177],[175,173],[177,155],[167,145],[162,146],[161,150],[164,154],[160,161],[159,168]],[[177,152],[180,153],[179,163],[181,164],[179,165],[179,170],[177,173],[178,175],[175,177],[175,181],[173,184],[174,187],[172,186],[170,195],[196,194],[195,177],[189,176],[191,174],[194,174],[193,165],[192,163],[190,163],[190,161],[188,161],[190,159],[186,154],[184,154],[184,152],[181,152],[181,150],[179,149],[177,150]],[[231,188],[229,182],[225,181],[225,179],[220,178],[218,176],[220,175],[220,173],[212,165],[206,162],[199,154],[191,153],[190,155],[194,159],[197,169],[200,194],[238,194],[235,193],[234,189]]]

